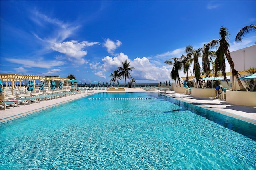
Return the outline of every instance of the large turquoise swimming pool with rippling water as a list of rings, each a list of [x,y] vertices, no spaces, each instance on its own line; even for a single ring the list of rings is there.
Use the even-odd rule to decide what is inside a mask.
[[[255,125],[157,93],[97,93],[0,127],[1,170],[256,168]]]

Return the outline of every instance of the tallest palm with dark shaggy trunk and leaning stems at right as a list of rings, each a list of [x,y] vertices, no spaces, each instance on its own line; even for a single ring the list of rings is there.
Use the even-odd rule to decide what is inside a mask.
[[[244,85],[242,84],[241,80],[238,77],[238,72],[234,68],[235,64],[231,58],[230,51],[228,49],[228,37],[229,37],[228,29],[225,27],[220,28],[220,39],[219,40],[212,40],[206,45],[206,49],[209,50],[211,48],[217,47],[216,51],[216,59],[215,59],[215,76],[218,76],[218,71],[222,71],[222,75],[228,84],[228,79],[226,76],[226,64],[225,58],[228,60],[228,63],[232,69],[232,77],[236,77],[238,85],[240,87],[240,91],[248,91]],[[234,81],[234,79],[233,79]],[[234,90],[234,83],[232,83],[232,90]]]

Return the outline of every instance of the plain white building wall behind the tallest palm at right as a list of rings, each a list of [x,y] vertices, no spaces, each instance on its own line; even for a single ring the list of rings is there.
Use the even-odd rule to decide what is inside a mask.
[[[248,70],[250,67],[256,67],[256,45],[230,52],[237,71]],[[230,72],[231,72],[230,68]],[[246,76],[246,75],[241,75]],[[230,76],[232,81],[232,76]]]

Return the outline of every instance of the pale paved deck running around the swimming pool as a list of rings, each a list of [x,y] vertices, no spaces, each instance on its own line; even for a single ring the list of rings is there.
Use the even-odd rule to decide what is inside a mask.
[[[140,88],[132,89],[126,88],[126,92],[156,92],[158,90],[153,91],[145,91]],[[94,90],[94,93],[106,92],[106,90]],[[249,106],[241,106],[241,105],[231,105],[226,103],[224,100],[220,99],[209,99],[205,97],[192,97],[191,95],[184,95],[180,93],[174,93],[174,91],[166,91],[167,96],[173,97],[175,99],[192,103],[193,105],[197,105],[199,107],[204,107],[206,109],[210,109],[213,111],[217,111],[224,115],[228,115],[231,117],[236,117],[238,119],[242,119],[244,121],[253,123],[256,125],[256,107]],[[18,117],[22,117],[24,115],[31,114],[35,111],[40,111],[42,109],[47,109],[49,107],[53,107],[62,103],[66,103],[68,101],[72,101],[75,99],[79,99],[81,97],[87,96],[86,93],[80,93],[76,95],[71,95],[67,97],[62,97],[58,99],[52,99],[48,101],[41,101],[40,103],[31,103],[30,105],[22,105],[14,108],[7,108],[6,110],[0,110],[0,123],[9,121],[11,119],[15,119]]]

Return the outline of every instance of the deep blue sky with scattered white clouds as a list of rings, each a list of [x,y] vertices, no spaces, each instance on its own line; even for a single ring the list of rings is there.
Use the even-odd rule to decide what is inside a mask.
[[[256,1],[0,1],[1,74],[74,74],[108,81],[126,59],[136,83],[169,81],[165,60],[230,31],[230,51],[254,45]],[[236,64],[236,63],[235,63]],[[180,73],[184,76],[184,73]],[[120,81],[124,83],[124,79]]]

